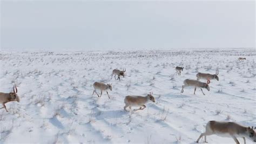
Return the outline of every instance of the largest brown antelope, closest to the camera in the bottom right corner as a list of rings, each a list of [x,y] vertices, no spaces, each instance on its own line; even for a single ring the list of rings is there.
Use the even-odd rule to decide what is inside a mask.
[[[239,144],[237,138],[245,138],[251,139],[252,141],[256,142],[256,133],[253,130],[253,127],[244,127],[235,122],[228,122],[228,121],[208,121],[205,127],[205,133],[202,133],[197,142],[205,136],[206,142],[206,135],[219,135],[223,137],[231,137],[234,139],[235,143]]]

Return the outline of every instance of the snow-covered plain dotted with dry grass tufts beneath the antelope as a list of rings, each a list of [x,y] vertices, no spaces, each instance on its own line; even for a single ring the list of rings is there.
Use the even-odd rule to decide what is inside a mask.
[[[10,92],[16,83],[21,102],[6,104],[8,113],[0,109],[0,143],[194,143],[209,120],[256,126],[255,55],[254,49],[2,51],[0,91]],[[185,67],[181,76],[176,66]],[[111,79],[114,68],[124,67],[125,78]],[[200,89],[194,95],[193,88],[180,93],[183,80],[216,69],[220,80],[211,81],[206,95]],[[112,83],[111,99],[105,92],[92,95],[95,81]],[[126,95],[149,92],[155,103],[124,111]],[[234,143],[215,135],[207,141]]]

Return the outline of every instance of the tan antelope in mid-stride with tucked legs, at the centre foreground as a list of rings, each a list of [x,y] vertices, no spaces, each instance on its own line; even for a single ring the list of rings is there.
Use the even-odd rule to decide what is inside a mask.
[[[126,111],[126,107],[131,109],[132,106],[138,106],[138,109],[133,109],[133,111],[143,110],[146,108],[145,104],[149,101],[156,102],[152,95],[153,93],[147,94],[146,97],[138,96],[138,95],[127,95],[124,99],[124,110]],[[143,108],[142,108],[143,107]]]

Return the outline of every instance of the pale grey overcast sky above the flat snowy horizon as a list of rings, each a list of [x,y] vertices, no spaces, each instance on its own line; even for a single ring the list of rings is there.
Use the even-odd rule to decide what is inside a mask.
[[[1,47],[255,47],[255,2],[1,1]]]

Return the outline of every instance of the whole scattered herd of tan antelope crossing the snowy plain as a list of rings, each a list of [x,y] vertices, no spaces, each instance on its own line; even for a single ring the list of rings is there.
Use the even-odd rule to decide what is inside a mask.
[[[239,61],[241,60],[245,60],[246,58],[238,58]],[[181,75],[181,71],[183,71],[184,67],[176,67],[176,73],[180,76]],[[125,72],[126,72],[126,68],[124,68],[122,71],[118,70],[118,69],[114,69],[112,71],[112,76],[111,79],[114,75],[114,78],[116,79],[116,76],[118,76],[118,78],[116,80],[119,79],[120,81],[120,76],[125,76]],[[197,73],[196,77],[197,80],[193,80],[193,79],[185,79],[184,80],[184,85],[181,88],[181,93],[184,92],[184,88],[185,87],[194,87],[194,94],[196,94],[196,90],[197,88],[200,88],[200,90],[202,91],[202,93],[205,95],[205,93],[203,92],[202,88],[206,88],[208,91],[210,91],[210,86],[209,84],[211,83],[210,80],[216,79],[219,81],[219,77],[218,77],[218,70],[215,72],[215,74],[210,74],[210,73]],[[200,79],[204,79],[207,80],[206,83],[203,83],[201,81],[199,81]],[[102,92],[106,91],[107,96],[110,99],[109,93],[107,92],[107,90],[112,91],[112,84],[104,84],[104,83],[99,83],[99,82],[95,82],[93,83],[93,93],[96,93],[98,95],[98,97],[102,97]],[[100,95],[97,93],[97,90],[100,90]],[[19,97],[17,94],[17,87],[16,85],[14,85],[13,87],[13,91],[14,92],[10,92],[10,93],[1,93],[0,92],[0,102],[3,105],[2,108],[5,108],[6,112],[8,112],[8,110],[6,109],[5,104],[7,102],[10,101],[17,101],[19,102]],[[147,102],[156,102],[156,100],[153,97],[153,92],[150,94],[147,94],[145,97],[143,96],[139,96],[139,95],[127,95],[124,99],[124,110],[126,110],[127,107],[129,107],[129,109],[131,110],[131,107],[139,107],[138,109],[133,109],[133,111],[138,111],[138,110],[143,110],[144,108],[146,108],[146,103]],[[0,109],[2,109],[0,108]],[[255,128],[254,128],[255,129]],[[245,138],[251,139],[252,141],[256,142],[256,133],[254,131],[253,127],[244,127],[241,126],[235,122],[226,122],[226,121],[209,121],[206,125],[206,130],[205,133],[202,133],[199,138],[197,139],[196,142],[199,142],[199,140],[205,136],[205,142],[206,142],[206,136],[207,135],[220,135],[220,136],[227,136],[227,137],[231,137],[234,139],[234,141],[239,144],[239,141],[237,140],[237,138],[243,138],[244,139],[244,143]]]

